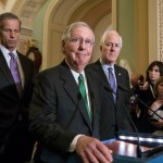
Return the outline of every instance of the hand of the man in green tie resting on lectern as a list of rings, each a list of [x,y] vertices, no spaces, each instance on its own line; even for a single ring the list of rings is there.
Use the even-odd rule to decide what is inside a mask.
[[[112,151],[96,138],[82,136],[77,140],[76,152],[84,163],[111,163]]]

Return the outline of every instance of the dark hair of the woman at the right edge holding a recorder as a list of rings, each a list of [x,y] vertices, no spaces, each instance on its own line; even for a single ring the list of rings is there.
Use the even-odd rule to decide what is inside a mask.
[[[160,71],[160,76],[163,76],[163,63],[161,61],[153,61],[147,68],[147,72],[146,72],[146,80],[147,82],[150,82],[150,78],[149,78],[149,71],[151,71],[153,68],[153,66],[158,66],[159,67],[159,71]]]

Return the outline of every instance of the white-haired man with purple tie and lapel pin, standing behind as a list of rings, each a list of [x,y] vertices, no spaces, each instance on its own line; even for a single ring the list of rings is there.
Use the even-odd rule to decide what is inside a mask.
[[[128,72],[116,63],[122,48],[122,37],[115,30],[106,30],[101,37],[100,51],[101,58],[88,65],[101,79],[101,85],[108,93],[108,109],[101,112],[100,134],[101,139],[105,140],[116,136],[117,131],[131,131],[126,111],[129,114],[129,93],[118,89],[123,86],[129,90]],[[115,88],[111,86],[110,67],[113,71]],[[112,92],[113,91],[113,92]],[[125,111],[126,110],[126,111]]]

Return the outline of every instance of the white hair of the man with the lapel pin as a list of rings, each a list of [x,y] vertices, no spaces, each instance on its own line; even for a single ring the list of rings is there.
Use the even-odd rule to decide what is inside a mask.
[[[120,38],[120,43],[121,43],[121,47],[122,47],[123,41],[122,41],[122,37],[120,36],[120,34],[118,34],[116,30],[110,30],[110,29],[106,29],[106,30],[103,33],[103,35],[101,36],[101,39],[100,39],[100,46],[103,46],[106,36],[112,35],[112,34],[118,36],[118,38]]]

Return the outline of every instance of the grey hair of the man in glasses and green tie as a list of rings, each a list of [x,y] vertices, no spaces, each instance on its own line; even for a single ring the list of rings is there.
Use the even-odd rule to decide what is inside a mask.
[[[88,27],[92,32],[92,29],[90,28],[90,26],[87,23],[85,23],[85,22],[75,22],[75,23],[72,23],[71,25],[68,25],[65,28],[65,30],[64,30],[64,33],[62,35],[62,41],[66,41],[66,40],[68,40],[71,38],[72,29],[74,29],[75,27],[83,27],[83,26],[84,27]],[[92,32],[92,35],[93,35],[93,32]],[[92,39],[95,41],[95,35],[93,35]]]

